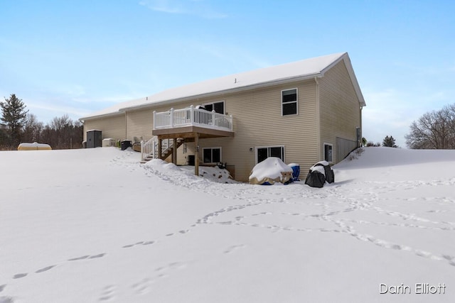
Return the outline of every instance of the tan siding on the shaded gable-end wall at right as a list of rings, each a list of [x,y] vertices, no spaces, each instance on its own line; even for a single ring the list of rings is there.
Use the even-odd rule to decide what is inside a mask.
[[[336,159],[336,138],[356,141],[356,128],[360,127],[360,104],[343,61],[328,70],[319,81],[321,160],[323,143],[333,145],[333,162]]]

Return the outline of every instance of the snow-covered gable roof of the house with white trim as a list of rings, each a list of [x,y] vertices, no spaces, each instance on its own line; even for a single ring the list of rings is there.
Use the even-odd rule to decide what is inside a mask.
[[[142,107],[158,104],[173,104],[174,102],[194,99],[196,97],[210,97],[228,92],[240,92],[246,89],[266,87],[273,84],[284,84],[286,82],[323,77],[327,70],[330,70],[331,67],[341,60],[344,60],[346,68],[348,69],[360,106],[365,106],[365,100],[360,91],[348,53],[336,53],[209,79],[203,82],[188,84],[183,87],[166,89],[163,92],[148,97],[115,104],[107,109],[82,117],[80,118],[80,121],[98,116],[119,114],[127,110],[140,109]]]

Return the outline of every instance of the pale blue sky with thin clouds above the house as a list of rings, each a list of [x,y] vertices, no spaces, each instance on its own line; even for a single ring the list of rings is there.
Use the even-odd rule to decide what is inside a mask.
[[[455,103],[455,1],[0,0],[0,98],[48,123],[183,84],[348,52],[363,135],[405,147]]]

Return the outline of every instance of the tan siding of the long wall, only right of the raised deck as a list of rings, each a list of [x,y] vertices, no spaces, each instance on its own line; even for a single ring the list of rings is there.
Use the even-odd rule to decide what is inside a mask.
[[[298,89],[299,114],[282,116],[282,89],[294,88]],[[235,137],[200,140],[200,158],[202,148],[221,147],[222,161],[235,165],[235,179],[240,181],[248,180],[256,164],[258,146],[284,145],[285,161],[299,163],[302,171],[317,160],[314,80],[256,89],[212,101],[221,99],[225,100],[225,111],[233,116]]]

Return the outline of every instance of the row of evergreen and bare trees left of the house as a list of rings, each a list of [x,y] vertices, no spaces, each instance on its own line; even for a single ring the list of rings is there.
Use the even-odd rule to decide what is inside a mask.
[[[83,126],[68,115],[55,117],[44,125],[28,113],[15,94],[0,101],[0,150],[15,150],[20,143],[47,143],[53,149],[82,148]]]

